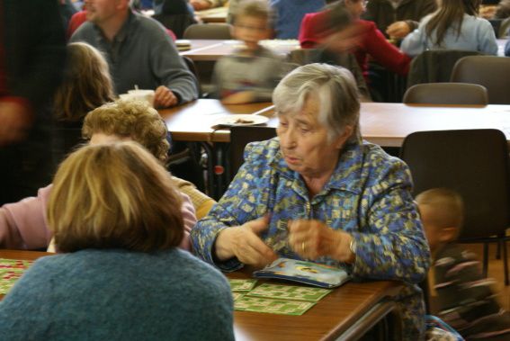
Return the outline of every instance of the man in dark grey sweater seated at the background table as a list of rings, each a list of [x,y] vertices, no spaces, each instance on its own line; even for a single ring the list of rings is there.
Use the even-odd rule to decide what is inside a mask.
[[[138,86],[156,91],[154,105],[170,107],[198,96],[197,82],[164,27],[130,10],[129,0],[85,0],[85,22],[71,42],[103,51],[117,94]]]

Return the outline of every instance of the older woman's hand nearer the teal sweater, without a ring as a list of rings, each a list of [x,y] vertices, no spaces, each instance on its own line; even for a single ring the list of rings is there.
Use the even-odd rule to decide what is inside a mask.
[[[269,216],[246,222],[246,224],[223,229],[216,238],[216,257],[225,261],[234,256],[245,265],[263,267],[278,256],[264,244],[258,235],[269,226]]]

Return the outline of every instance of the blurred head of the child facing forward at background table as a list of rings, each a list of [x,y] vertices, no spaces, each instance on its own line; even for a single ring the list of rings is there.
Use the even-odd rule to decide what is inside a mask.
[[[233,36],[255,49],[260,40],[270,38],[271,13],[266,1],[246,0],[241,3],[234,19]]]

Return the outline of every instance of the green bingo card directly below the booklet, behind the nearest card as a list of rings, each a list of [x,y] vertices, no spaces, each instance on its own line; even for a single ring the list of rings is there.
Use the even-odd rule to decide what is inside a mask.
[[[248,295],[252,297],[264,297],[266,299],[317,302],[329,292],[331,292],[331,290],[322,288],[264,283],[257,286],[251,292],[248,292]]]

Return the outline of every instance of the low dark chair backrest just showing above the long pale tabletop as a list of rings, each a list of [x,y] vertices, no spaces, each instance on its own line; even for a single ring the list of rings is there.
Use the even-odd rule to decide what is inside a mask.
[[[487,89],[467,83],[424,83],[409,87],[404,103],[487,105]]]

